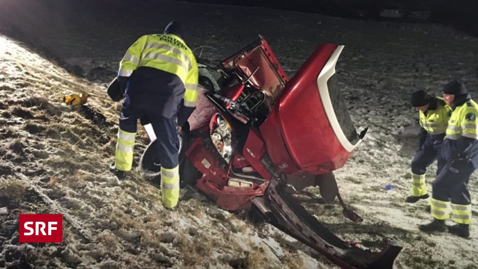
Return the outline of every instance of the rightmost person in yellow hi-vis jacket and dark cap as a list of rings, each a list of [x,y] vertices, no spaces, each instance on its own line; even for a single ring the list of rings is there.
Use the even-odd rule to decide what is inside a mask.
[[[447,164],[433,182],[430,199],[433,221],[420,225],[424,232],[448,232],[470,237],[472,201],[468,182],[478,167],[478,105],[465,88],[453,80],[445,85],[443,98],[452,108],[442,153]],[[454,226],[445,221],[453,215]]]

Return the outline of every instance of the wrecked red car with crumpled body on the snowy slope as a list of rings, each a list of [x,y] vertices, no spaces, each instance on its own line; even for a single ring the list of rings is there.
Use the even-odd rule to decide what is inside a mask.
[[[345,165],[366,135],[349,116],[337,86],[344,46],[321,44],[289,79],[259,36],[219,63],[198,57],[198,107],[179,134],[181,184],[190,184],[218,207],[250,209],[342,268],[391,269],[401,247],[377,253],[344,242],[296,200],[295,190],[317,185],[324,199],[347,208],[333,171]],[[140,169],[148,176],[155,136]]]

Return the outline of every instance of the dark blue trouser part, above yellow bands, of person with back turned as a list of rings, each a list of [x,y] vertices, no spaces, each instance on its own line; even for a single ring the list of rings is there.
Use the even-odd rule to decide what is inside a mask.
[[[178,166],[177,116],[168,119],[159,114],[152,114],[148,111],[131,107],[126,99],[121,106],[119,128],[125,132],[136,133],[138,119],[141,119],[141,122],[150,122],[157,140],[154,162],[168,169]]]

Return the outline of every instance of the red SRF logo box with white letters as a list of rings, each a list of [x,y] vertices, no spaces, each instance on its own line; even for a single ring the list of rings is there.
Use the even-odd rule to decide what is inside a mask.
[[[20,243],[62,243],[63,215],[20,214],[18,217]]]

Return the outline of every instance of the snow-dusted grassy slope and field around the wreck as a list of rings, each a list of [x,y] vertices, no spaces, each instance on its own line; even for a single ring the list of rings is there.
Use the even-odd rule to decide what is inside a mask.
[[[190,189],[183,190],[180,209],[169,212],[159,190],[136,172],[119,182],[107,171],[119,105],[106,97],[105,83],[137,37],[162,31],[171,19],[187,22],[188,43],[205,46],[202,56],[211,59],[225,58],[262,34],[290,77],[320,43],[345,45],[339,85],[354,122],[370,132],[336,175],[342,196],[364,221],[343,217],[337,201],[317,203],[316,188],[308,189],[304,206],[343,239],[370,248],[383,238],[398,240],[404,247],[398,268],[478,268],[476,173],[470,180],[470,240],[420,232],[418,225],[430,220],[428,201],[404,203],[417,125],[409,96],[418,89],[440,95],[446,82],[460,78],[478,98],[477,38],[433,24],[267,8],[167,0],[87,3],[1,3],[0,29],[29,47],[0,36],[0,268],[334,268],[277,229],[253,226]],[[90,110],[62,104],[65,94],[78,91],[92,93]],[[138,135],[135,162],[146,138]],[[428,183],[435,171],[433,164]],[[393,188],[385,189],[387,184]],[[64,214],[64,243],[18,244],[19,213]]]

